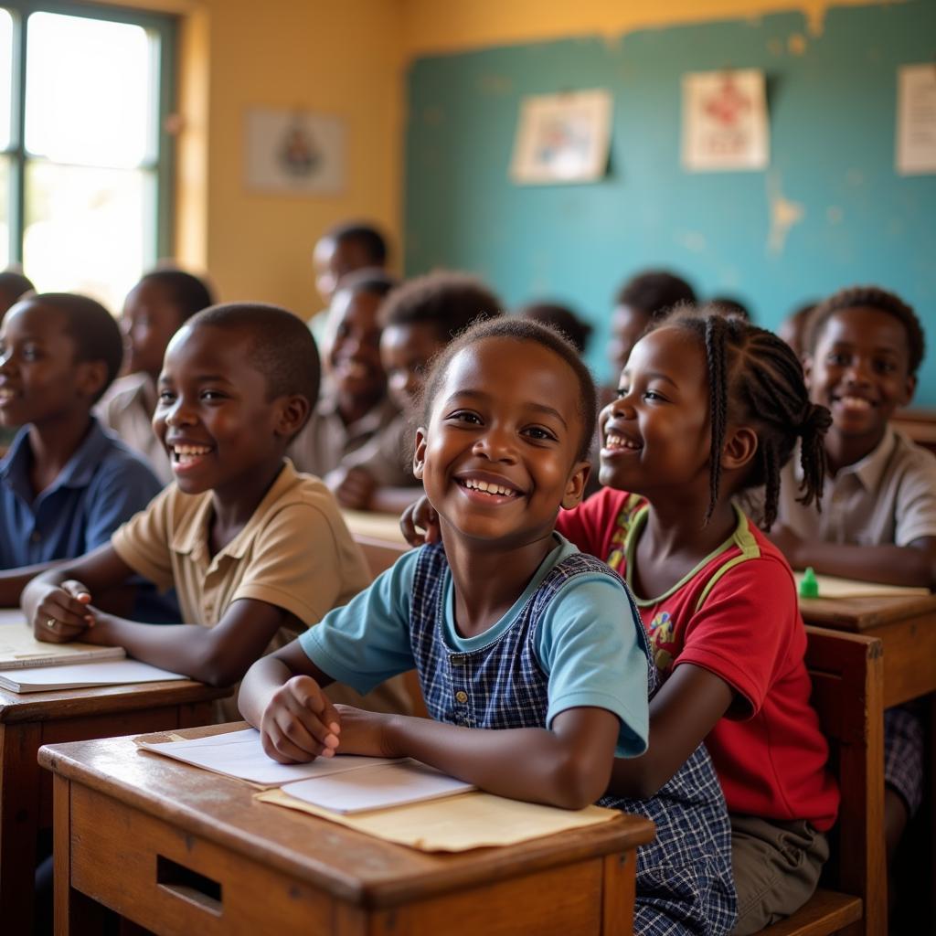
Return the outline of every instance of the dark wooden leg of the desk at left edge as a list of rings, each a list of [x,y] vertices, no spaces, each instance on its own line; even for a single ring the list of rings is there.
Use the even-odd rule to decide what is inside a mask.
[[[33,927],[39,737],[37,724],[0,725],[0,920],[8,932]]]

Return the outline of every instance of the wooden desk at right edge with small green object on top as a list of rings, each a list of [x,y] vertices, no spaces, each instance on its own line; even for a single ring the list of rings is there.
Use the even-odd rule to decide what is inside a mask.
[[[880,637],[885,709],[936,692],[936,594],[800,598],[808,624]]]

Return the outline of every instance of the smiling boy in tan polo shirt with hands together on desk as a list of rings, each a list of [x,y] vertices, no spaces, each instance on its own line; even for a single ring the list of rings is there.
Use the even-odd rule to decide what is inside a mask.
[[[176,483],[109,544],[30,582],[22,607],[36,636],[119,645],[230,685],[364,588],[367,566],[334,498],[284,457],[314,408],[317,361],[308,329],[285,309],[230,303],[191,318],[168,345],[154,414]],[[95,594],[135,574],[174,586],[184,623],[94,607]],[[364,704],[407,708],[399,683]]]

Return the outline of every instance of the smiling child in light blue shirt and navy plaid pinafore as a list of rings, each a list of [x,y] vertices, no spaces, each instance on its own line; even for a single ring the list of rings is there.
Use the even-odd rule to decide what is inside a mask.
[[[241,713],[267,753],[412,756],[505,797],[650,816],[638,933],[720,934],[735,894],[724,799],[698,748],[657,797],[604,797],[648,730],[647,643],[620,578],[554,533],[589,472],[595,390],[576,349],[530,321],[478,323],[427,380],[414,471],[442,542],[258,661]],[[630,614],[623,617],[621,608]],[[417,667],[431,719],[332,706]]]

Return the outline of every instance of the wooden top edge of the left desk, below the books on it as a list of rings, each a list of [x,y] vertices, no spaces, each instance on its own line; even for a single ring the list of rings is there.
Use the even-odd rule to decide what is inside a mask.
[[[131,682],[119,686],[51,689],[40,693],[13,693],[0,689],[0,724],[212,702],[233,692],[233,686],[216,688],[194,680]]]

